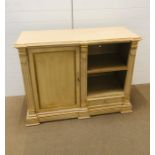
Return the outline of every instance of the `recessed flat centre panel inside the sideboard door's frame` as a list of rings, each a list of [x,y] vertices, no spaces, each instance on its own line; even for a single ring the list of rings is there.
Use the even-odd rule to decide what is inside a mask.
[[[40,108],[76,104],[75,51],[35,53]]]

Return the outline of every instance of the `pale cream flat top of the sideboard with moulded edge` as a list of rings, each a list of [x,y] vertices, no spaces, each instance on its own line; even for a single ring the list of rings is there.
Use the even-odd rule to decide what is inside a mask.
[[[65,29],[21,32],[15,47],[91,44],[97,42],[139,41],[141,37],[124,27]]]

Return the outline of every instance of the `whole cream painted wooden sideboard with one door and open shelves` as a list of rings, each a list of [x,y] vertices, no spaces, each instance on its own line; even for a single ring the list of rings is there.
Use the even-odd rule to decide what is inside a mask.
[[[140,40],[123,27],[22,32],[15,47],[25,84],[26,125],[131,112]]]

